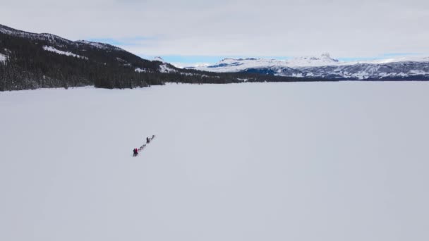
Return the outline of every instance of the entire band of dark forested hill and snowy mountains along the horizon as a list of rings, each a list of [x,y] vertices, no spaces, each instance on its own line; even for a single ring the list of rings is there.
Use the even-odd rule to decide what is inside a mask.
[[[165,82],[302,82],[338,80],[429,80],[429,58],[344,63],[329,54],[279,61],[225,58],[212,66],[176,68],[119,47],[71,41],[0,25],[0,91],[94,85],[133,88]]]

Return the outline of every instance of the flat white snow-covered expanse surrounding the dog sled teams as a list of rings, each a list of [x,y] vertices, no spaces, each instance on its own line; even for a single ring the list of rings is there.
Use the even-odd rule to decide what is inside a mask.
[[[0,240],[429,240],[428,93],[428,82],[0,92]]]

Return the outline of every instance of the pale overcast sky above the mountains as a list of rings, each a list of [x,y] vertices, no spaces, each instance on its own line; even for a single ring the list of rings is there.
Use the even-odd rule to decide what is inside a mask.
[[[428,0],[0,0],[0,20],[178,61],[429,54]]]

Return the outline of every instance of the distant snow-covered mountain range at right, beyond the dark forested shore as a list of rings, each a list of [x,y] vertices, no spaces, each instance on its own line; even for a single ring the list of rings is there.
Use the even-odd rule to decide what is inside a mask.
[[[285,61],[266,58],[224,58],[212,66],[188,69],[329,80],[429,80],[429,57],[356,62],[338,61],[329,54]]]

